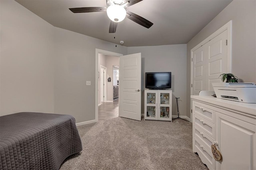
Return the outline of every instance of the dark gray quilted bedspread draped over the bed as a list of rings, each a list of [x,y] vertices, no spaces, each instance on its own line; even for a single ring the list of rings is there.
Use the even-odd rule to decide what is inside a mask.
[[[58,170],[82,150],[74,117],[22,112],[0,117],[0,169]]]

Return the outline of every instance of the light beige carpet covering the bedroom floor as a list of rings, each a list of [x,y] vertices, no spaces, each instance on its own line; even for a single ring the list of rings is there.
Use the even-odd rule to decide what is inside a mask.
[[[114,118],[78,127],[83,150],[61,170],[207,170],[192,151],[192,123]]]

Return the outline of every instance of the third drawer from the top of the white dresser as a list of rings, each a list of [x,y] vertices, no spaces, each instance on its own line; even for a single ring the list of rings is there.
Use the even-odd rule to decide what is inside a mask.
[[[198,138],[198,140],[200,140],[200,142],[211,152],[211,145],[214,144],[213,138],[198,126],[194,126],[194,137]]]

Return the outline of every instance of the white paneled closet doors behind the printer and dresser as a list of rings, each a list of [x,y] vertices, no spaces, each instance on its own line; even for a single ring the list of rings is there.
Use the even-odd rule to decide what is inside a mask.
[[[202,90],[213,91],[212,83],[221,82],[220,74],[227,73],[227,32],[192,51],[192,95],[199,95]]]

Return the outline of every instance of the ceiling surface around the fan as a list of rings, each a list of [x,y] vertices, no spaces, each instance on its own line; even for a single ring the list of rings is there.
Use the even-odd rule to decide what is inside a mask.
[[[106,12],[76,13],[68,8],[106,7],[106,0],[16,0],[53,26],[124,46],[188,43],[232,0],[143,0],[128,11],[154,23],[147,29],[125,18],[108,33]],[[115,37],[115,38],[114,38]]]

